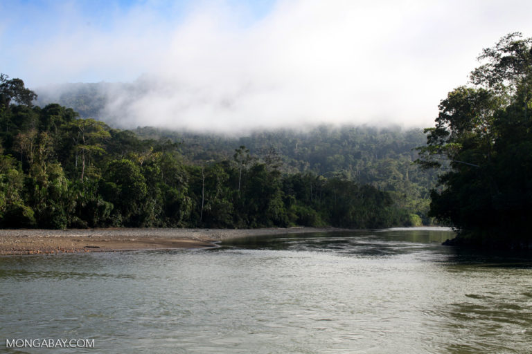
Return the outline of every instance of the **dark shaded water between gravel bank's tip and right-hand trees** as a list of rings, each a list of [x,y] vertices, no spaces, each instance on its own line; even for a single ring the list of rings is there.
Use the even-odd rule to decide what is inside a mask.
[[[348,232],[317,232],[249,236],[220,243],[213,252],[228,249],[333,252],[360,257],[393,257],[429,252],[436,263],[470,264],[498,268],[532,268],[532,252],[475,250],[444,246],[454,233],[446,227],[410,227]]]

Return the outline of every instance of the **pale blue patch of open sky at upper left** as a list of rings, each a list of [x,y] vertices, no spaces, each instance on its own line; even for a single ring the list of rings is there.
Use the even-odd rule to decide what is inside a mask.
[[[149,28],[156,25],[159,30],[172,30],[186,19],[190,12],[203,6],[220,6],[233,11],[238,26],[245,28],[260,21],[274,6],[274,0],[225,0],[225,1],[194,1],[194,0],[89,0],[89,1],[57,1],[57,0],[6,0],[0,2],[0,59],[1,72],[11,77],[26,77],[32,85],[47,82],[67,81],[116,81],[133,80],[128,75],[101,75],[98,68],[80,68],[77,75],[71,77],[57,76],[54,80],[50,75],[45,78],[34,77],[33,68],[28,67],[35,59],[25,57],[24,52],[35,44],[64,37],[72,32],[97,32],[105,37],[112,37],[120,32],[120,26],[127,17],[139,18],[145,15],[145,21],[139,21],[139,31],[143,26]],[[74,48],[73,48],[74,49]],[[46,48],[54,50],[54,48]],[[32,55],[38,53],[29,50]],[[69,55],[62,53],[63,55]],[[23,52],[23,53],[21,53]],[[29,63],[28,63],[28,59]],[[137,73],[138,76],[141,73]]]

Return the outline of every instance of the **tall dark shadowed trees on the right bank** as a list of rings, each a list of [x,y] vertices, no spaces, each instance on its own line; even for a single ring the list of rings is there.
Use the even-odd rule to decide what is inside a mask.
[[[451,91],[426,129],[419,162],[446,168],[429,215],[457,227],[454,243],[532,241],[532,38],[506,35],[480,55],[469,86]]]

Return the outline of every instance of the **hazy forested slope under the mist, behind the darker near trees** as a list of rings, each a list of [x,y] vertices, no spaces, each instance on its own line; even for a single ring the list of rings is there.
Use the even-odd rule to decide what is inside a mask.
[[[414,164],[418,158],[415,148],[426,140],[422,129],[322,125],[304,132],[277,129],[239,138],[153,127],[137,128],[135,133],[142,138],[178,142],[190,161],[231,159],[234,147],[245,145],[263,160],[276,156],[282,162],[283,174],[314,174],[372,185],[389,192],[396,205],[417,215],[418,223],[433,223],[427,212],[439,171]]]

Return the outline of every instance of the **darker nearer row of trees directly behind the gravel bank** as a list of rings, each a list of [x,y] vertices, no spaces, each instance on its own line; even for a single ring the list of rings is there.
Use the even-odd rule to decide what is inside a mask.
[[[315,168],[283,167],[275,148],[258,156],[236,145],[225,155],[190,158],[193,149],[185,149],[184,156],[183,143],[162,136],[141,139],[132,131],[81,119],[60,104],[33,106],[33,100],[35,93],[24,82],[1,75],[1,227],[389,227],[420,222],[397,194],[356,183],[344,171],[323,176]],[[322,144],[317,142],[317,149]],[[309,149],[304,145],[308,142],[294,149]]]

